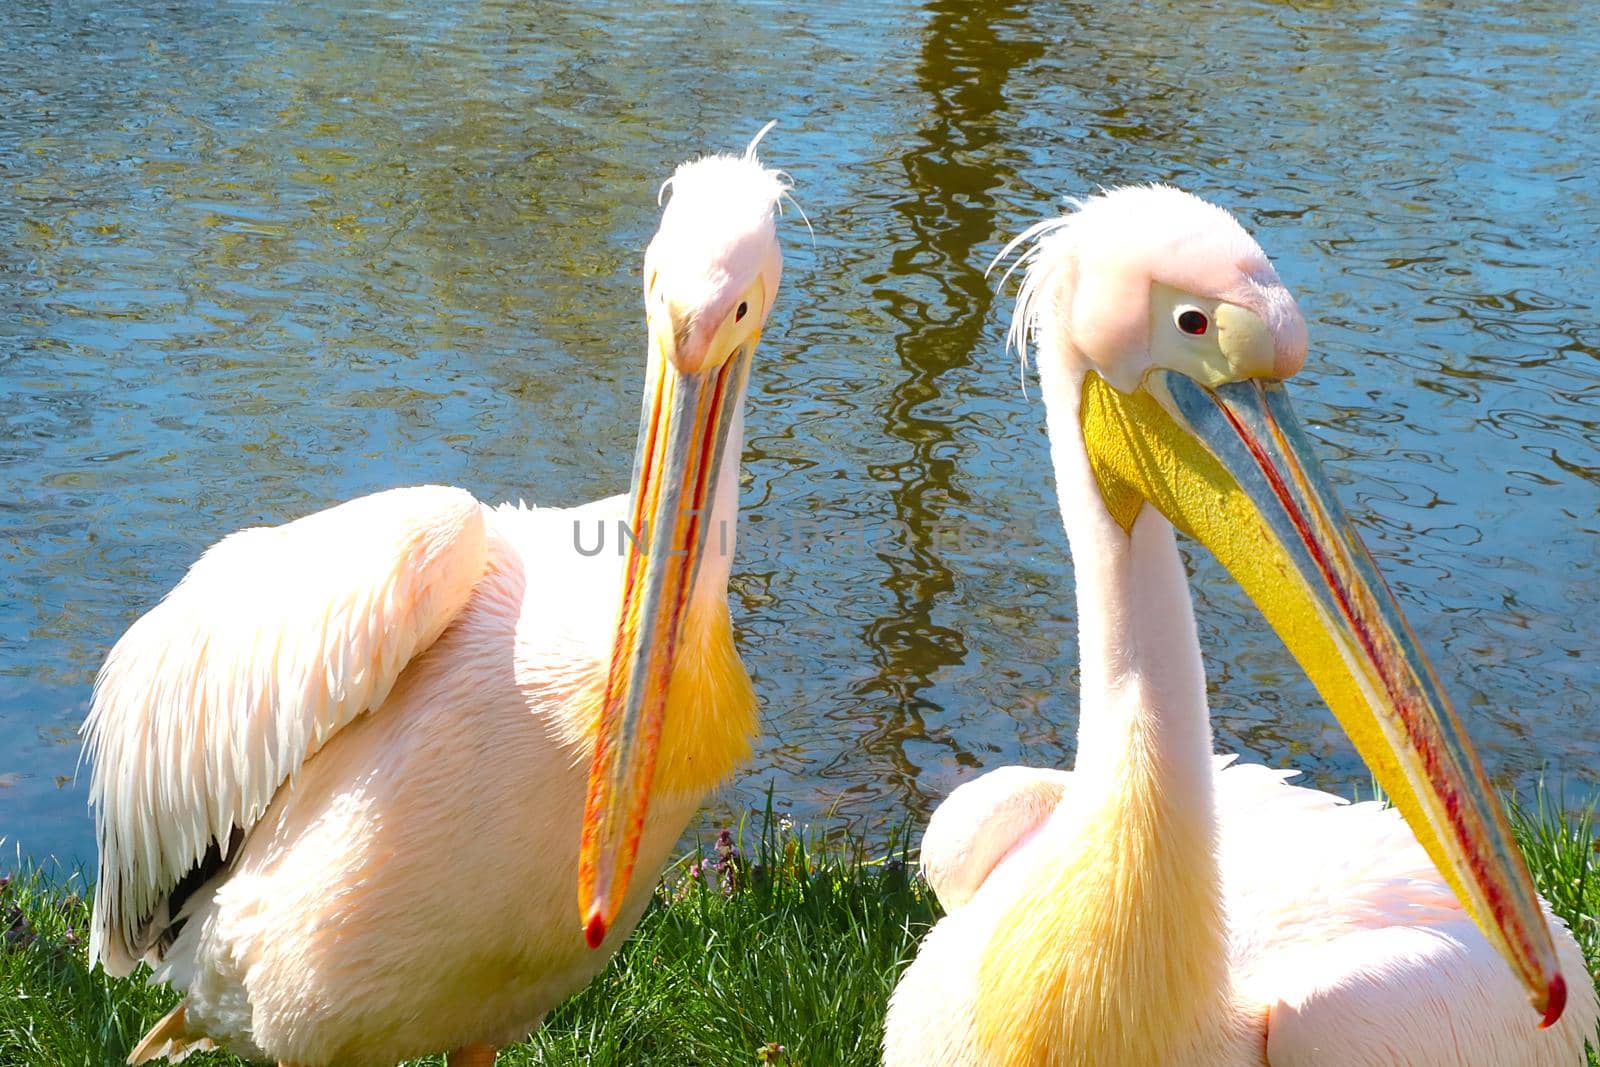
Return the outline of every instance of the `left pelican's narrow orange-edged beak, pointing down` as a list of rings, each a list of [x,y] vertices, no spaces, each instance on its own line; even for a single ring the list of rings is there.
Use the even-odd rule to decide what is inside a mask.
[[[725,360],[683,370],[686,336],[677,306],[650,304],[632,536],[578,857],[578,907],[590,949],[614,925],[634,873],[680,630],[723,474],[723,445],[758,341],[750,336]]]

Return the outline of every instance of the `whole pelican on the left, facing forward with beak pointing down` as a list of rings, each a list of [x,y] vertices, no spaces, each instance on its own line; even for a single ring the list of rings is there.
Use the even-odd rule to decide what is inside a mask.
[[[630,496],[424,486],[246,530],[112,648],[91,955],[186,990],[130,1062],[491,1064],[600,971],[747,753],[726,584],[787,182],[752,142],[667,189]]]

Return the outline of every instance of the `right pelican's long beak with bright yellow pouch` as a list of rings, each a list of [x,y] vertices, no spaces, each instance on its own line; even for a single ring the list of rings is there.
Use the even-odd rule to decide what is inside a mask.
[[[1554,1024],[1566,984],[1506,814],[1283,384],[1158,370],[1122,394],[1090,374],[1080,419],[1112,515],[1131,528],[1149,501],[1245,587]]]

